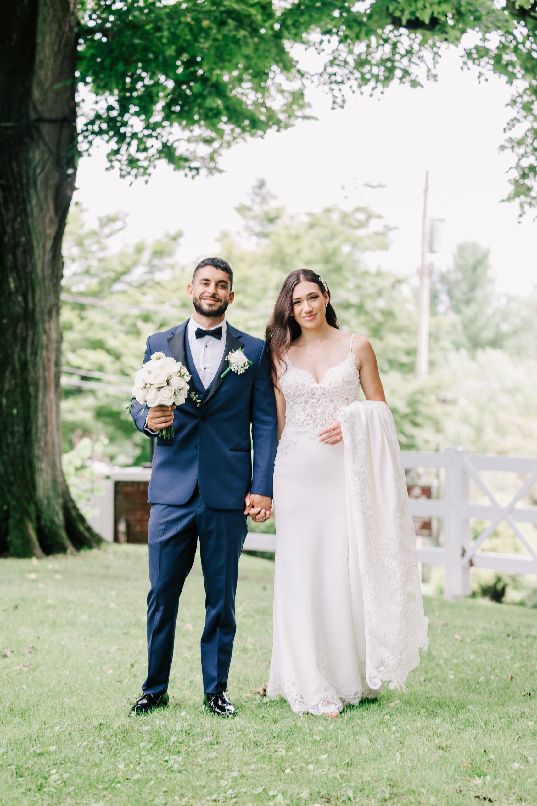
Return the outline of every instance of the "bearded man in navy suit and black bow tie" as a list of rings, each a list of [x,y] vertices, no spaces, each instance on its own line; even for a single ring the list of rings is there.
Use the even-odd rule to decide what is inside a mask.
[[[233,272],[220,258],[202,260],[188,296],[192,316],[178,327],[147,339],[144,363],[163,351],[192,375],[183,405],[143,409],[132,417],[144,434],[173,424],[175,436],[157,436],[147,499],[149,577],[147,655],[143,696],[131,713],[166,705],[177,608],[192,568],[197,540],[205,584],[205,628],[201,636],[204,702],[221,717],[233,715],[225,696],[235,637],[238,561],[246,538],[246,515],[271,516],[272,473],[277,447],[274,388],[265,343],[225,321],[233,302]],[[251,364],[228,372],[226,356],[244,350]],[[175,409],[175,410],[174,410]],[[251,440],[254,443],[252,473]],[[245,509],[246,504],[246,509]]]

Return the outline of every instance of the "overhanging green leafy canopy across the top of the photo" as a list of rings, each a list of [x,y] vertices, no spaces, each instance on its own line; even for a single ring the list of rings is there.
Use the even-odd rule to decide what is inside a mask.
[[[462,44],[463,64],[516,82],[508,128],[518,129],[503,145],[517,157],[510,198],[537,204],[537,2],[84,0],[78,37],[79,89],[97,96],[81,150],[104,138],[110,163],[131,176],[158,159],[215,170],[237,139],[304,116],[309,74],[293,44],[325,56],[313,77],[335,105],[346,89],[419,86],[436,77],[443,46]]]

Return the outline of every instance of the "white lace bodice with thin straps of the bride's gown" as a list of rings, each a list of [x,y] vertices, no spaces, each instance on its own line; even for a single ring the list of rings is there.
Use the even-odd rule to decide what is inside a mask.
[[[291,359],[286,358],[280,378],[285,397],[285,428],[279,441],[276,461],[283,458],[299,434],[318,439],[319,431],[337,418],[341,408],[357,401],[360,373],[352,347],[353,337],[349,354],[339,364],[330,367],[318,384],[311,372],[294,367]]]

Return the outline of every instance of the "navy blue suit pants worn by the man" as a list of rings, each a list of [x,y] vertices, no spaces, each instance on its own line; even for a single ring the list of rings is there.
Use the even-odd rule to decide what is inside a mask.
[[[194,490],[187,504],[153,504],[149,517],[149,578],[147,596],[147,680],[143,691],[167,691],[170,679],[177,609],[200,538],[205,584],[205,628],[201,636],[204,692],[223,692],[233,651],[238,561],[246,538],[241,510],[209,509]]]

